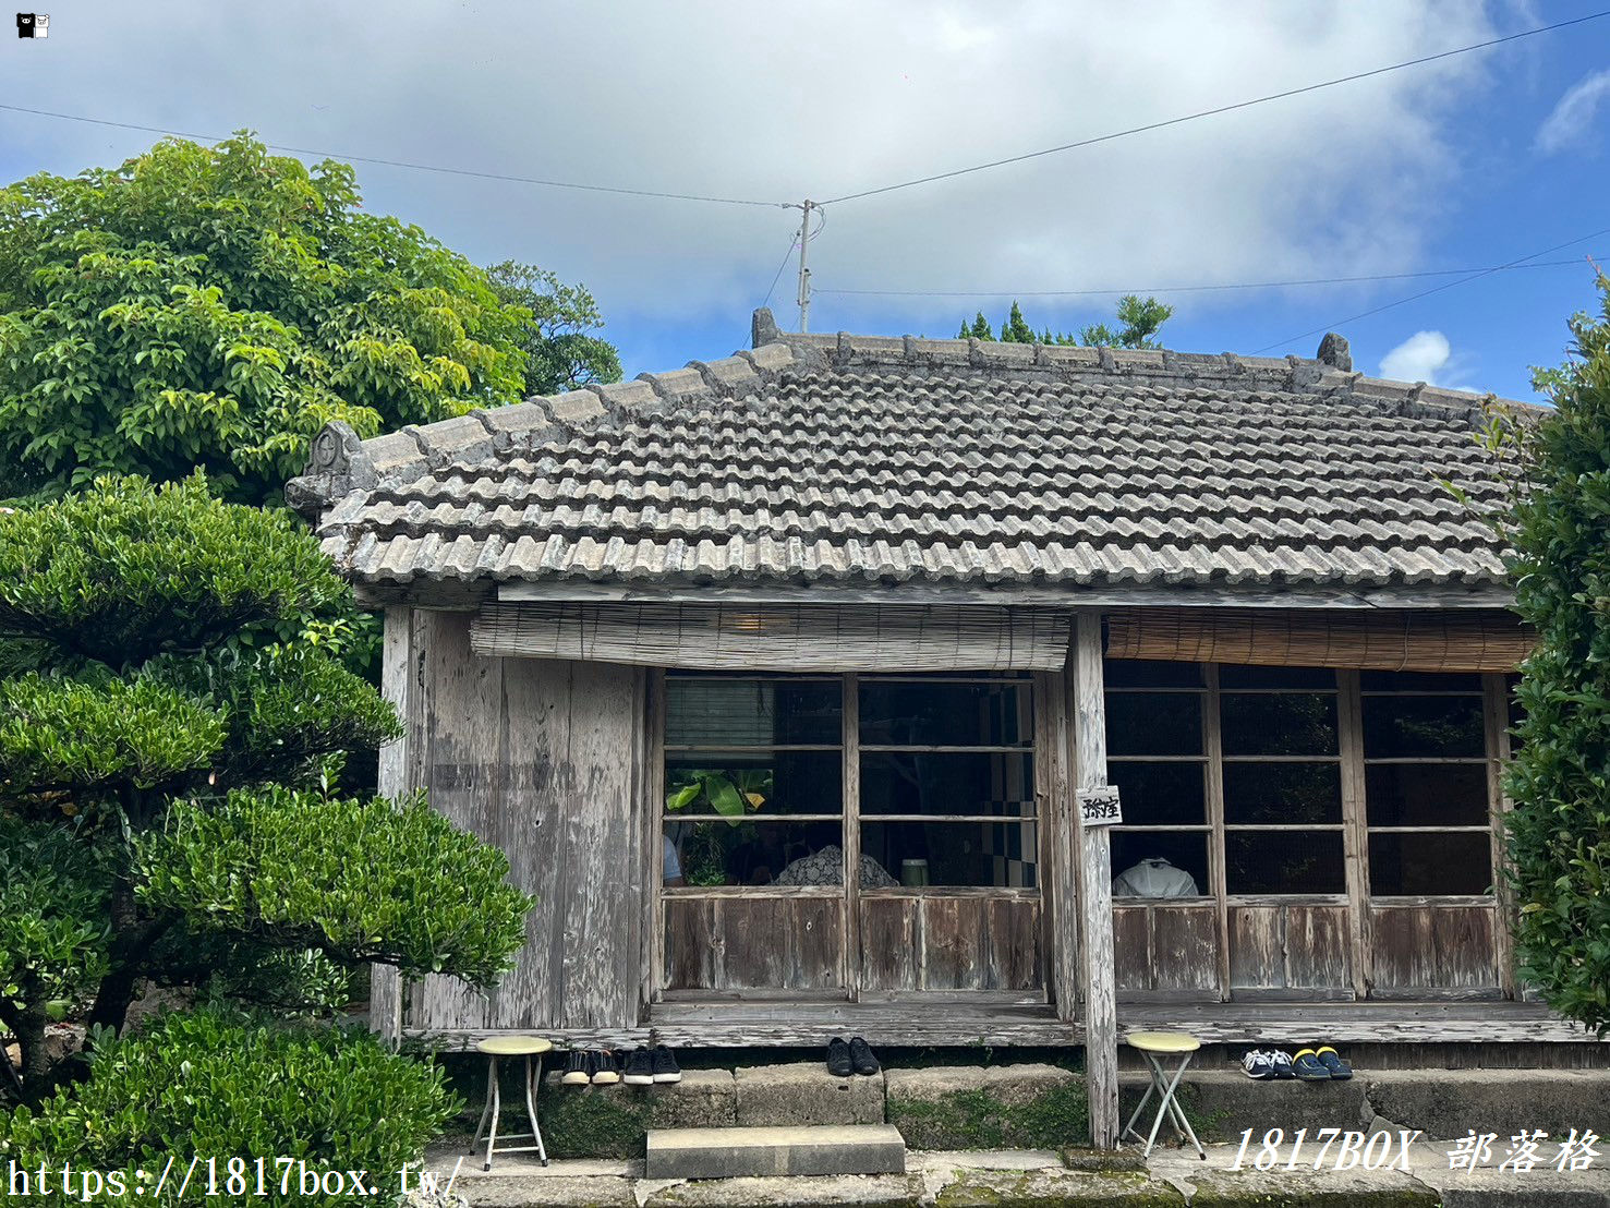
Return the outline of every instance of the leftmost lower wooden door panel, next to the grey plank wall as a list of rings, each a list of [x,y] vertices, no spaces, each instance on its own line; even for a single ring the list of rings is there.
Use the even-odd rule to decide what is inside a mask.
[[[667,991],[831,991],[844,952],[836,897],[667,897]]]

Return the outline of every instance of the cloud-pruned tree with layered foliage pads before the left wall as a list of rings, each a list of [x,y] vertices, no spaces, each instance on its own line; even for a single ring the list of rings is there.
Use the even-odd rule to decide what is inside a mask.
[[[317,952],[489,984],[522,945],[496,847],[328,792],[332,752],[398,734],[332,656],[346,598],[287,511],[200,474],[0,514],[0,1024],[31,1097],[45,1023],[121,1029],[143,979]]]

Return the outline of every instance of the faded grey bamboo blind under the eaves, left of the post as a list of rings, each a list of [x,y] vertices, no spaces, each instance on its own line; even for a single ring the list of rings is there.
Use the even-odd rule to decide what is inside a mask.
[[[1063,609],[1003,606],[486,604],[477,654],[707,672],[1061,670]]]

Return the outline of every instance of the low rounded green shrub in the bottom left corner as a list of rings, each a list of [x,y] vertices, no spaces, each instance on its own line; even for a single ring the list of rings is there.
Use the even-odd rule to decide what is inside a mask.
[[[71,1163],[76,1179],[101,1176],[89,1197],[80,1182],[63,1190],[52,1177],[43,1194],[32,1185],[27,1203],[39,1205],[335,1208],[354,1203],[348,1173],[365,1171],[356,1198],[391,1203],[404,1165],[423,1156],[459,1107],[438,1066],[399,1057],[362,1029],[214,1003],[156,1016],[137,1036],[98,1032],[87,1082],[37,1111],[0,1116],[0,1173]],[[192,1156],[200,1161],[180,1198]],[[308,1190],[304,1171],[340,1171],[345,1185]]]

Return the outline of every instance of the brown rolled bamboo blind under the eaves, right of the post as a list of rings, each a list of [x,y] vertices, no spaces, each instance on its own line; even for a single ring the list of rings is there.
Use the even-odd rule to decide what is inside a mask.
[[[1108,657],[1381,672],[1513,672],[1536,635],[1509,612],[1127,609]]]

